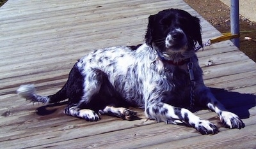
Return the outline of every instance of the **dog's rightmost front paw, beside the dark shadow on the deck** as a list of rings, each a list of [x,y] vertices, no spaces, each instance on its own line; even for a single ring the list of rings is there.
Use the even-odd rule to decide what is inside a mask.
[[[228,111],[222,111],[220,113],[220,121],[225,127],[230,129],[242,129],[245,126],[237,115]]]

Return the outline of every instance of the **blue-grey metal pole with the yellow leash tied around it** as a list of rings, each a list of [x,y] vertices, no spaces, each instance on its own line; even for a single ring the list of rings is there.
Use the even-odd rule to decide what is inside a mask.
[[[231,0],[230,3],[230,31],[232,34],[239,34],[239,0]],[[239,48],[239,38],[231,41]]]

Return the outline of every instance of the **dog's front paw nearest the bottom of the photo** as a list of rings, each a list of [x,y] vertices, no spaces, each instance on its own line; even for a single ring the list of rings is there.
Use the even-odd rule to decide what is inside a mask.
[[[216,134],[218,133],[218,127],[212,124],[208,120],[200,120],[198,125],[195,126],[195,129],[198,130],[201,134]]]

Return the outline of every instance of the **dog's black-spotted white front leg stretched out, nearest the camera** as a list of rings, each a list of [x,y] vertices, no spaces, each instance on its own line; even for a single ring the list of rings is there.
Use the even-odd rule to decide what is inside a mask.
[[[166,124],[186,124],[201,134],[216,134],[218,128],[208,120],[202,120],[185,108],[177,108],[165,103],[152,103],[145,108],[147,118]]]

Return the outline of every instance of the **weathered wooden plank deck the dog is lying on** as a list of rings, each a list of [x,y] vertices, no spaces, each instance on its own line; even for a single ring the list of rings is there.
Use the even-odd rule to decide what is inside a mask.
[[[181,0],[9,0],[0,8],[0,148],[256,148],[256,64],[230,41],[199,51],[204,79],[246,127],[221,127],[215,113],[196,112],[220,127],[202,136],[191,127],[104,116],[98,122],[68,117],[65,105],[29,103],[15,90],[34,83],[54,94],[77,59],[93,49],[143,42],[147,18],[180,8],[201,18],[204,41],[220,35]],[[205,66],[213,60],[214,65]],[[226,90],[223,90],[226,89]],[[227,91],[228,90],[228,91]],[[45,115],[44,110],[49,111]],[[37,113],[36,113],[37,111]]]

